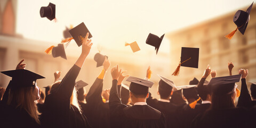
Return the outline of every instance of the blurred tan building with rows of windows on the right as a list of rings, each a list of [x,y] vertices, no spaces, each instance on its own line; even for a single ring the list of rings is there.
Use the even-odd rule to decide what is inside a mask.
[[[187,85],[194,77],[201,79],[208,64],[217,70],[217,77],[229,75],[228,61],[235,65],[233,75],[241,68],[249,69],[247,82],[256,82],[256,9],[252,8],[245,34],[237,30],[234,37],[228,39],[225,35],[236,29],[233,22],[235,12],[166,34],[171,46],[171,73],[180,61],[181,47],[200,48],[198,69],[181,67],[180,76],[173,77],[175,84]]]

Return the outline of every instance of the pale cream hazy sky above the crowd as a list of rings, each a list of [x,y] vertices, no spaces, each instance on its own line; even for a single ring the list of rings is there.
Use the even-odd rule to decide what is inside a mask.
[[[56,5],[57,22],[41,18],[41,6]],[[142,52],[154,50],[146,44],[149,33],[157,36],[196,25],[250,6],[251,0],[18,0],[18,34],[25,38],[60,43],[66,26],[84,22],[92,34],[93,47],[130,51],[124,43],[137,41]],[[255,6],[255,5],[254,5]],[[233,19],[230,19],[233,23]],[[35,42],[36,43],[36,42]],[[75,46],[73,42],[71,46]],[[163,39],[159,52],[168,53]]]

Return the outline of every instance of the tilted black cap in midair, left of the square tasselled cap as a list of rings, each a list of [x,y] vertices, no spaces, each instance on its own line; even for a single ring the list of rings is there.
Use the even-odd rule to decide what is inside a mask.
[[[162,35],[160,38],[157,35],[149,33],[148,38],[146,40],[146,44],[149,44],[151,46],[155,47],[156,54],[159,50],[159,47],[163,41],[164,35]]]

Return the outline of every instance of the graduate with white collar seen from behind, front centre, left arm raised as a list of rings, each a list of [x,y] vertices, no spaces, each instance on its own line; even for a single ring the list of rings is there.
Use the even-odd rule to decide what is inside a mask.
[[[165,127],[164,115],[146,103],[148,87],[151,87],[153,82],[131,76],[127,78],[126,81],[132,82],[129,88],[132,102],[141,100],[141,102],[135,102],[134,106],[127,107],[118,97],[117,79],[122,75],[118,65],[111,70],[111,75],[113,77],[109,96],[111,127]],[[133,93],[139,98],[135,98]],[[142,98],[142,95],[145,98]]]

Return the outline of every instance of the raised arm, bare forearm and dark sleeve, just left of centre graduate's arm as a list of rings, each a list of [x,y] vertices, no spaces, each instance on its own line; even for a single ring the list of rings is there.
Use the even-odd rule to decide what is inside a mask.
[[[95,79],[94,83],[90,87],[89,92],[86,95],[86,102],[87,103],[103,103],[101,98],[101,92],[103,88],[103,78],[111,65],[110,61],[105,57],[103,62],[103,69],[100,75]]]

